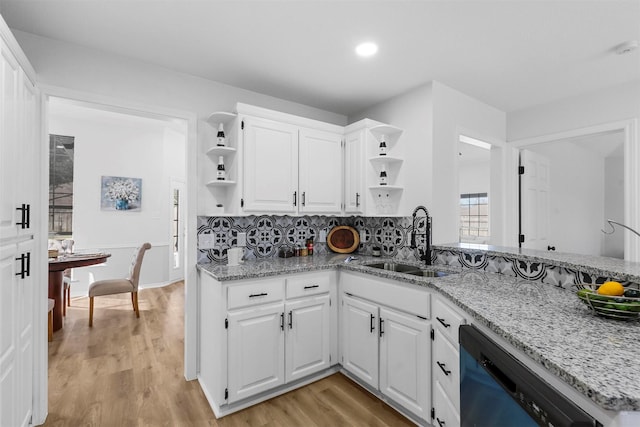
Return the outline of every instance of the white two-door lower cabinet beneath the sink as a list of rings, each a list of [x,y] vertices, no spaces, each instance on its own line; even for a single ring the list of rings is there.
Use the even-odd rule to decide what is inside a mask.
[[[379,280],[372,279],[370,293],[365,288],[357,289],[358,282],[366,279],[351,280],[358,293],[341,295],[342,367],[413,416],[428,420],[431,409],[428,318],[404,311],[407,307],[382,305],[380,301],[388,298]],[[387,292],[396,296],[399,293],[402,299],[404,289],[391,283],[389,286]],[[405,297],[411,298],[412,292],[407,291]],[[428,293],[422,292],[428,306]]]

